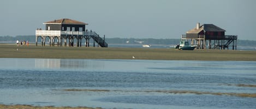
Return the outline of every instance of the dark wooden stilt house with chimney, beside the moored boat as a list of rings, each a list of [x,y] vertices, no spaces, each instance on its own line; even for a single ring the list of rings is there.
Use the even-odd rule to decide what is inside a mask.
[[[236,49],[237,35],[225,35],[225,30],[214,24],[197,23],[197,27],[182,35],[183,40],[191,40],[198,49]]]

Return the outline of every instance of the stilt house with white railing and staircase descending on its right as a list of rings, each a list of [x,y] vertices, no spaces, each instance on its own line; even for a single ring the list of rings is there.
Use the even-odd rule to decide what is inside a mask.
[[[81,47],[82,39],[86,39],[86,47],[88,47],[89,40],[92,38],[94,42],[97,42],[100,47],[108,47],[108,43],[105,42],[105,37],[102,39],[95,31],[87,31],[87,23],[70,20],[68,18],[62,18],[60,20],[54,20],[43,23],[45,24],[45,30],[35,30],[35,44],[38,45],[38,38],[41,37],[41,45],[45,46],[45,39],[49,37],[50,46],[55,46],[55,40],[57,39],[57,46],[74,46],[74,39],[76,39],[76,46]]]

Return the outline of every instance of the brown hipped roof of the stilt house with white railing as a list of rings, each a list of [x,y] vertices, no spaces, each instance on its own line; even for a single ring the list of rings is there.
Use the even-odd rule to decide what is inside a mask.
[[[88,25],[87,23],[71,20],[69,18],[62,18],[59,20],[44,22],[43,24],[81,24],[81,25]]]

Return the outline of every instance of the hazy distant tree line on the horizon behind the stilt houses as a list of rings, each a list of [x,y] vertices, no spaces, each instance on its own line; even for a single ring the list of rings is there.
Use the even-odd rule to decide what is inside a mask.
[[[19,41],[29,41],[30,43],[35,42],[35,35],[22,35],[22,36],[0,36],[1,42],[16,42]],[[93,41],[93,40],[90,40]],[[134,39],[134,38],[105,38],[107,43],[112,44],[178,44],[180,39]],[[237,40],[237,46],[253,46],[255,47],[256,41],[252,40]]]

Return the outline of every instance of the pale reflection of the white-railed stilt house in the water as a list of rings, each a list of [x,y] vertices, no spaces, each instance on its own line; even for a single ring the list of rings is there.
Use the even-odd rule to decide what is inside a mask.
[[[104,68],[104,63],[79,59],[35,59],[35,68],[96,69]]]

